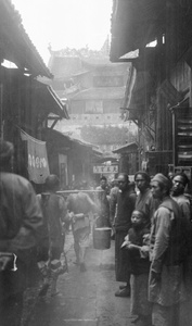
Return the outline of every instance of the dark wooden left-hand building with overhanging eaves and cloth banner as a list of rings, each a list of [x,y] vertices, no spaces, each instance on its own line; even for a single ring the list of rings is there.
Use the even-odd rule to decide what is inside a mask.
[[[13,67],[14,66],[14,67]],[[52,74],[10,0],[0,1],[0,137],[15,146],[15,172],[35,184],[49,174],[42,127],[68,118],[53,89],[37,80]]]

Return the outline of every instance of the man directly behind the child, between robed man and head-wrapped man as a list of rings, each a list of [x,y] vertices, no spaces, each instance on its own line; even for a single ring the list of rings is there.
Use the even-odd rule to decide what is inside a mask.
[[[150,189],[151,178],[144,171],[139,171],[135,175],[136,186],[139,195],[136,200],[136,210],[142,211],[146,215],[146,225],[150,227],[154,212],[159,202],[153,198]]]

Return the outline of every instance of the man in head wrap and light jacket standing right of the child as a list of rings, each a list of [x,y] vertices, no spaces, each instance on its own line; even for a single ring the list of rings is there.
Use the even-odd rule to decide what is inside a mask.
[[[179,205],[169,197],[171,183],[167,177],[156,174],[151,187],[153,197],[161,200],[151,229],[152,321],[154,326],[175,326],[179,321],[179,303],[185,300],[182,216]]]

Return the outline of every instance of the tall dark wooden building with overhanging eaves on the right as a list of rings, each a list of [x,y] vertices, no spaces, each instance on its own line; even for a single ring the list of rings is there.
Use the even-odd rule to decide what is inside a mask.
[[[113,2],[111,61],[132,64],[121,110],[140,128],[141,162],[149,166],[153,149],[153,174],[191,175],[191,15],[189,0]]]

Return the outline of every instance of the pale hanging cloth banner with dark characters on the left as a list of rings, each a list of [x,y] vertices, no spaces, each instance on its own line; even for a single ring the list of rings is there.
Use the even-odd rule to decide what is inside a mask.
[[[50,174],[46,141],[33,138],[23,130],[21,130],[21,137],[22,140],[27,141],[29,180],[43,184]]]

